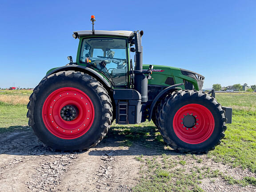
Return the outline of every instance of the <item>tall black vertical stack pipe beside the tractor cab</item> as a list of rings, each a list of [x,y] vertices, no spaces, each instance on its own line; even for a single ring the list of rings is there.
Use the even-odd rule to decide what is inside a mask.
[[[143,34],[143,32],[141,33]],[[141,37],[140,33],[134,32],[134,40],[135,40],[135,75],[134,75],[134,88],[141,94],[141,102],[148,101],[148,79],[142,73],[142,46],[141,46]]]

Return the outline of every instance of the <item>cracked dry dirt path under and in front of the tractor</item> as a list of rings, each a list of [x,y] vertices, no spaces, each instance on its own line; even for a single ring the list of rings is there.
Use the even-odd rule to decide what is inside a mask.
[[[42,147],[30,130],[7,132],[0,134],[0,192],[130,192],[138,183],[142,164],[135,157],[162,153],[158,146],[147,148],[140,142],[134,142],[130,148],[122,147],[116,136],[105,138],[86,152],[52,152]],[[167,153],[173,160],[180,158],[172,150]],[[192,160],[185,155],[182,158]],[[200,158],[203,163],[198,166],[218,168],[237,179],[255,177],[248,170],[232,169],[208,160],[206,155]],[[227,185],[218,178],[215,183],[210,178],[203,179],[200,187],[205,191],[256,192],[256,187]]]

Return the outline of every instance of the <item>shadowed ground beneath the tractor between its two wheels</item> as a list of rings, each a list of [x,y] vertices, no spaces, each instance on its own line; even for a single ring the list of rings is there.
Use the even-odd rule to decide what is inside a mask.
[[[90,156],[152,156],[152,155],[185,155],[167,147],[155,126],[123,127],[114,125],[107,136],[96,147],[90,150]]]

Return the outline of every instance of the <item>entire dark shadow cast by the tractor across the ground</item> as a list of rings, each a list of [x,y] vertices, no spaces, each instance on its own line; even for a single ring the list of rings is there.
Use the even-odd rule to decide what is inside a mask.
[[[0,128],[4,130],[6,128]],[[162,136],[154,126],[119,127],[113,125],[107,136],[88,151],[61,152],[45,148],[29,126],[10,127],[11,132],[0,133],[0,154],[20,156],[64,155],[88,153],[90,156],[134,156],[134,155],[177,155],[172,149],[166,149]],[[184,155],[184,154],[179,154]]]

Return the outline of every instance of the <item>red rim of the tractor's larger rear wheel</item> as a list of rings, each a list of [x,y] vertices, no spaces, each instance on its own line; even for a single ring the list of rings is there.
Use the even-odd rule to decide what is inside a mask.
[[[74,120],[66,121],[60,116],[64,106],[72,105],[78,110]],[[94,120],[94,108],[90,98],[77,88],[59,88],[44,101],[42,116],[46,128],[62,139],[75,139],[86,133]]]

